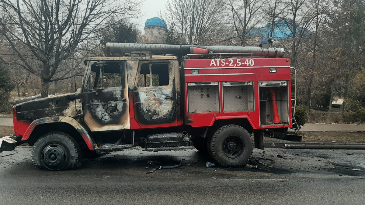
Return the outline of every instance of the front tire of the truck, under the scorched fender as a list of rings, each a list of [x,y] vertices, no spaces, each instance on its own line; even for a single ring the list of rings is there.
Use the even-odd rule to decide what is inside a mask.
[[[34,143],[32,161],[37,168],[76,169],[81,166],[80,146],[63,132],[48,132]]]

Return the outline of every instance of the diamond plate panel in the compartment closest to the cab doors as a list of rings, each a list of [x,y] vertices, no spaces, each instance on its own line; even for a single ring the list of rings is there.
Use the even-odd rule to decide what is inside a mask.
[[[188,86],[188,111],[189,113],[219,112],[219,86]]]

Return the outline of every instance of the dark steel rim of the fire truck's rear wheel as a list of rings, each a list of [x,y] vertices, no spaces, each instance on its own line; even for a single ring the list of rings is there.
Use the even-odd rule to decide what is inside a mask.
[[[222,151],[227,158],[237,159],[245,151],[245,142],[238,135],[228,135],[223,140]]]

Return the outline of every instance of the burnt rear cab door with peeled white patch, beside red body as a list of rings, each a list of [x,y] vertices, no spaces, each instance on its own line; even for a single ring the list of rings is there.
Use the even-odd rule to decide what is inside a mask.
[[[133,96],[141,128],[180,125],[180,80],[176,74],[177,61],[139,62]]]

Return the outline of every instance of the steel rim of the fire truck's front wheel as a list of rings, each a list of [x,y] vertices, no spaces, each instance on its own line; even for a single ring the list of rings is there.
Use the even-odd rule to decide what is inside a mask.
[[[42,163],[47,169],[61,170],[68,162],[69,154],[62,144],[47,144],[41,154]]]

